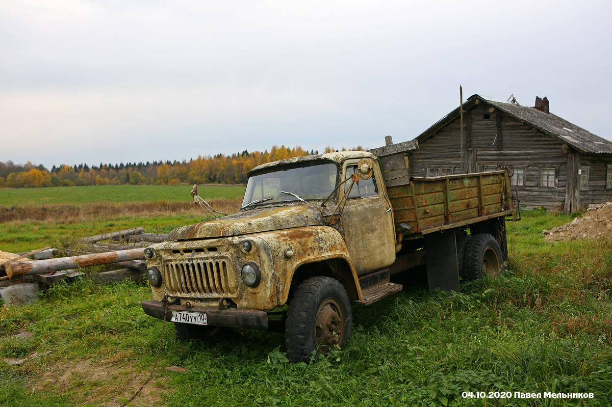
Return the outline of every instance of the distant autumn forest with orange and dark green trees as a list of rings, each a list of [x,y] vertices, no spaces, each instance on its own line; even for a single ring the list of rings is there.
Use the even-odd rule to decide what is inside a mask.
[[[353,150],[363,150],[361,146]],[[327,146],[324,152],[334,152]],[[346,151],[346,149],[342,149]],[[35,166],[0,161],[0,188],[40,188],[45,186],[84,186],[84,185],[177,185],[188,184],[241,184],[247,182],[247,173],[259,164],[285,160],[305,155],[318,154],[318,151],[284,145],[276,145],[265,152],[232,155],[198,156],[189,161],[153,161],[149,163],[121,163],[88,166],[87,164],[63,164],[48,170],[42,164]]]

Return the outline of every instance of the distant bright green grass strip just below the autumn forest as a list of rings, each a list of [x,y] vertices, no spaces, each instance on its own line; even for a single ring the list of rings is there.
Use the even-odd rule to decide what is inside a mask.
[[[244,194],[244,186],[198,186],[204,200],[233,199]],[[51,188],[0,188],[0,205],[94,204],[98,202],[190,201],[192,185],[99,185]]]

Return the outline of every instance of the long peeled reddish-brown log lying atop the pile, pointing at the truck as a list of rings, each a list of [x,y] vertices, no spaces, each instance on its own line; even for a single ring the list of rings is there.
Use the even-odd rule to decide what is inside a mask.
[[[84,254],[81,256],[61,257],[59,259],[35,260],[34,262],[14,262],[6,265],[6,274],[28,276],[44,274],[50,271],[68,270],[70,268],[100,266],[108,263],[144,260],[144,249],[130,249],[116,252]]]

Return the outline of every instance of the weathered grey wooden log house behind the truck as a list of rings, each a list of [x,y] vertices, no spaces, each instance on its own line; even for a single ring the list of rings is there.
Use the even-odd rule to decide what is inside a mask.
[[[414,177],[509,166],[521,205],[567,213],[612,196],[612,142],[550,113],[547,98],[528,107],[473,95],[415,140]]]

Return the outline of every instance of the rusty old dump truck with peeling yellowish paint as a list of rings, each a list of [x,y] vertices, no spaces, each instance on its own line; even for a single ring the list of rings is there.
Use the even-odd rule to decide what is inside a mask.
[[[346,342],[351,303],[400,291],[402,273],[426,268],[431,290],[457,291],[499,273],[515,213],[507,171],[410,177],[412,148],[255,167],[238,213],[146,249],[144,312],[174,322],[181,340],[280,329],[289,360],[308,362]]]

